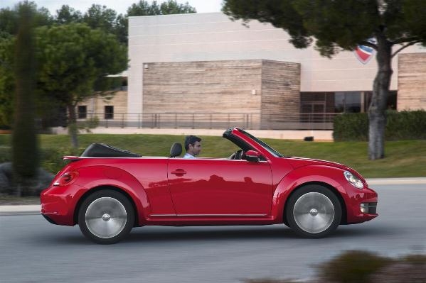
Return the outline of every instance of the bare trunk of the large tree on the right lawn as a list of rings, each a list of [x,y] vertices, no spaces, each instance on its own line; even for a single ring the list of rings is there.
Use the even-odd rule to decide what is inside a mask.
[[[390,77],[392,77],[392,43],[384,35],[377,35],[378,72],[373,84],[373,97],[368,109],[368,158],[376,160],[385,157],[386,106]]]

